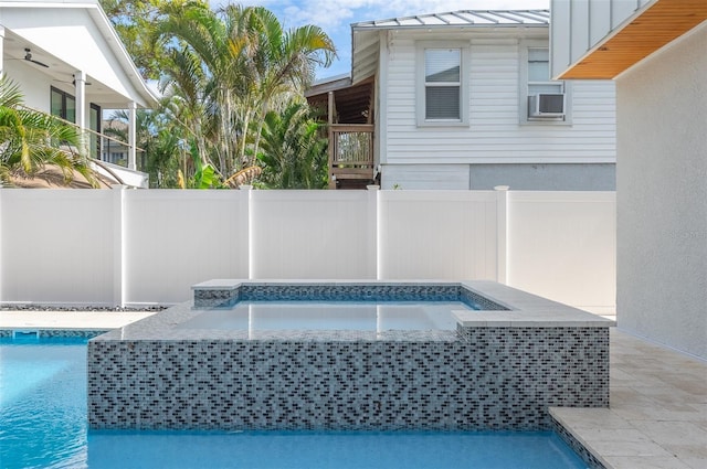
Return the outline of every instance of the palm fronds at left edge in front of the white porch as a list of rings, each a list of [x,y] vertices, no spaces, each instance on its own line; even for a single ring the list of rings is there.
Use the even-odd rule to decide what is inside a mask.
[[[0,76],[0,180],[11,173],[34,175],[46,164],[56,166],[71,182],[73,171],[96,186],[78,131],[57,118],[23,107],[20,88],[6,75]]]

